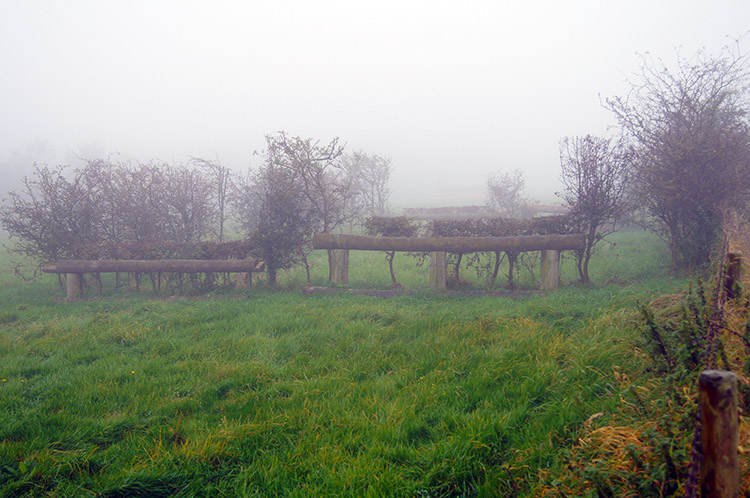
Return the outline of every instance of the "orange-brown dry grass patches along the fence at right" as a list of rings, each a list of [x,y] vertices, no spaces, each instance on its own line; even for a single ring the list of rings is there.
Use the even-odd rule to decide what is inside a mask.
[[[720,339],[724,346],[724,353],[729,367],[737,374],[740,386],[745,389],[750,386],[750,374],[748,374],[748,359],[750,348],[746,342],[746,330],[750,328],[750,223],[737,215],[727,216],[724,233],[727,235],[728,250],[740,251],[743,258],[741,287],[745,294],[733,301],[726,303],[724,309],[725,328],[720,332]],[[718,273],[718,272],[717,272]],[[679,320],[680,306],[685,294],[669,294],[654,299],[649,308],[654,310],[660,320]],[[710,297],[709,297],[710,298]],[[645,355],[644,355],[645,356]],[[720,362],[723,367],[723,362]],[[648,399],[647,393],[658,392],[658,383],[654,380],[647,385],[637,385],[631,378],[615,368],[613,372],[615,381],[621,389],[630,389],[631,392],[643,394],[643,399]],[[684,399],[694,401],[697,397],[697,386],[686,385],[682,387]],[[742,389],[740,390],[742,391]],[[645,431],[661,431],[655,420],[663,417],[665,413],[659,413],[659,406],[651,402],[634,403],[633,396],[629,398],[621,396],[622,410],[611,417],[602,417],[603,414],[592,415],[584,424],[582,436],[570,450],[570,457],[566,462],[562,475],[550,476],[543,472],[540,477],[542,482],[552,483],[540,486],[537,490],[538,496],[543,497],[567,497],[580,496],[596,489],[595,483],[589,481],[585,469],[592,467],[606,468],[609,484],[618,489],[618,496],[640,496],[635,484],[640,476],[643,476],[643,462],[654,461],[658,458],[657,450],[649,443],[651,439],[645,436]],[[739,397],[740,408],[740,465],[741,483],[740,489],[745,490],[744,496],[750,496],[750,407],[744,406],[743,397]],[[686,403],[682,407],[675,407],[672,403],[661,403],[661,410],[685,410]],[[607,419],[607,425],[597,424],[600,420]],[[688,438],[689,439],[689,435]],[[681,470],[685,471],[688,462],[680,462]],[[684,473],[683,473],[684,475]],[[655,483],[658,484],[658,483]],[[663,485],[663,483],[662,483]],[[681,483],[675,495],[684,493],[684,483]]]

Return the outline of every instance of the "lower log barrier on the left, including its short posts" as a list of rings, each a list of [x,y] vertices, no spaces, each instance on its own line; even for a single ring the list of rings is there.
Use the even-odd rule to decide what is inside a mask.
[[[250,259],[68,259],[42,268],[64,273],[68,298],[83,294],[85,273],[237,273],[237,288],[250,287],[250,275],[265,270],[262,261]]]

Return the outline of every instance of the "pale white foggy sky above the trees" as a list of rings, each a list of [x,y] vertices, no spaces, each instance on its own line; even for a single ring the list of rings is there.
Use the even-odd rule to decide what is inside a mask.
[[[394,206],[481,204],[515,168],[551,201],[558,141],[615,125],[637,53],[748,30],[746,0],[0,0],[0,191],[24,148],[244,169],[285,130],[390,157]]]

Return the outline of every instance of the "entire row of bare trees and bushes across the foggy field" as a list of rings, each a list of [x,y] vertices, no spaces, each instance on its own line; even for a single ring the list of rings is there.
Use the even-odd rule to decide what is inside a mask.
[[[708,264],[722,220],[744,214],[750,199],[749,76],[748,59],[731,51],[678,58],[674,70],[644,58],[627,96],[604,104],[619,135],[560,141],[558,196],[568,207],[566,226],[587,240],[577,254],[582,282],[590,281],[596,244],[635,210],[668,243],[675,270]],[[314,233],[387,210],[388,159],[347,153],[338,139],[285,132],[266,136],[258,156],[260,166],[244,174],[203,158],[179,165],[110,159],[77,169],[38,165],[0,207],[0,222],[14,250],[39,262],[79,257],[84,247],[117,258],[139,244],[223,242],[229,224],[240,228],[243,247],[265,261],[273,284],[280,270],[297,264],[309,279]],[[520,217],[528,202],[524,187],[520,170],[496,172],[487,179],[487,207],[502,220]],[[409,233],[411,225],[390,228]],[[435,234],[454,232],[446,226]],[[457,277],[462,255],[456,258]]]

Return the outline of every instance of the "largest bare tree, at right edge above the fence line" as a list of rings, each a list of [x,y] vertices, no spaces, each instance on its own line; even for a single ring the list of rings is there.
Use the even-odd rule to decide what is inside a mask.
[[[729,49],[678,57],[674,70],[643,57],[630,92],[606,101],[632,141],[640,201],[675,269],[705,265],[723,208],[746,200],[748,76],[748,59]]]

